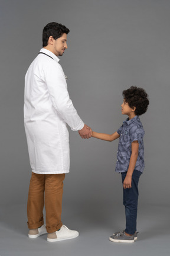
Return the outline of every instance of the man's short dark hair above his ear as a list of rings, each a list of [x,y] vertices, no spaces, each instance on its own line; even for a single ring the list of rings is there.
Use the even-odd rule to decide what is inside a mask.
[[[48,39],[50,36],[56,40],[64,33],[68,34],[69,32],[70,30],[60,23],[48,23],[42,31],[42,47],[48,45]]]

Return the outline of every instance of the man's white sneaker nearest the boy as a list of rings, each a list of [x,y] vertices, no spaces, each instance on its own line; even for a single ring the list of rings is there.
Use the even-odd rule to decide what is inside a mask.
[[[47,241],[48,242],[57,242],[66,239],[73,239],[79,236],[79,232],[72,231],[68,229],[65,225],[61,227],[59,231],[55,231],[54,233],[48,233]]]

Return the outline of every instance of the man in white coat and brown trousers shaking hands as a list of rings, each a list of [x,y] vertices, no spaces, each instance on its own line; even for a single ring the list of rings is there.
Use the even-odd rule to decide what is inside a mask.
[[[48,233],[47,241],[76,238],[61,222],[63,180],[69,172],[67,124],[91,137],[68,95],[66,76],[58,63],[67,49],[68,28],[49,23],[42,33],[42,49],[25,75],[24,124],[32,175],[28,193],[28,236]],[[46,228],[43,219],[45,201]]]

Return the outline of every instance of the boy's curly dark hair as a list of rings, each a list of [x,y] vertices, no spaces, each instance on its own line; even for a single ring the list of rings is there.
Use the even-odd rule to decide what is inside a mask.
[[[137,116],[141,116],[148,109],[149,100],[145,89],[132,86],[124,90],[122,94],[130,108],[136,107],[135,114]]]

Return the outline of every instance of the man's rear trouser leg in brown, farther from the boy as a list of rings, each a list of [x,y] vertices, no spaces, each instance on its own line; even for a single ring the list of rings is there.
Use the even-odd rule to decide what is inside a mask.
[[[27,203],[29,229],[38,229],[44,224],[44,181],[44,174],[32,172]]]

